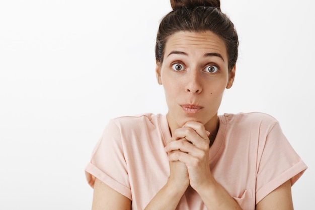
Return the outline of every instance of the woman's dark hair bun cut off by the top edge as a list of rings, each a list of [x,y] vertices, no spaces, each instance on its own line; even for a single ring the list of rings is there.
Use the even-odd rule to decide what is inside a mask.
[[[198,6],[220,9],[220,0],[171,0],[171,7],[173,10],[182,7],[195,8]]]

